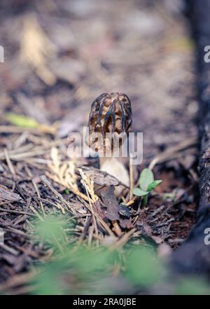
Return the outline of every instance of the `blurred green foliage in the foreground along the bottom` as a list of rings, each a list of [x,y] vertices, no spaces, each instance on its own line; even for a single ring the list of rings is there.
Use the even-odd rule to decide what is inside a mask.
[[[78,245],[77,240],[69,241],[73,235],[68,228],[74,224],[71,218],[55,215],[35,222],[35,241],[53,254],[36,265],[32,294],[127,294],[149,290],[167,278],[155,247],[128,243],[113,250],[96,243],[91,248],[85,242]],[[207,284],[197,282],[178,282],[174,294],[208,294]]]

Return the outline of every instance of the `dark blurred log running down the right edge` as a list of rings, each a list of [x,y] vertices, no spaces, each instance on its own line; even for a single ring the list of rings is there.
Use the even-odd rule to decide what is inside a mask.
[[[210,276],[210,245],[204,232],[210,228],[210,62],[205,62],[205,46],[210,46],[210,0],[193,0],[192,26],[197,44],[197,88],[200,107],[200,203],[197,221],[186,242],[172,257],[176,273]],[[206,55],[207,57],[207,55]],[[206,230],[207,232],[207,230]]]

